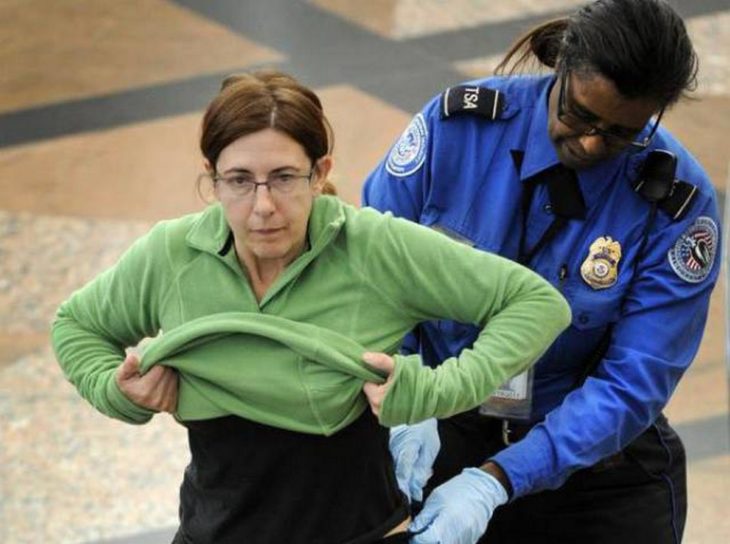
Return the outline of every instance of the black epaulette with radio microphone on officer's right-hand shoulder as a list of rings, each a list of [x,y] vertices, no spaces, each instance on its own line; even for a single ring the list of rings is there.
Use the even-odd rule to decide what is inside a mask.
[[[642,198],[678,221],[689,209],[697,194],[697,186],[675,178],[677,157],[664,149],[651,151],[633,184]]]

